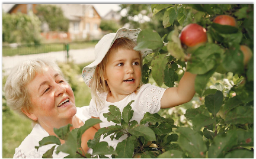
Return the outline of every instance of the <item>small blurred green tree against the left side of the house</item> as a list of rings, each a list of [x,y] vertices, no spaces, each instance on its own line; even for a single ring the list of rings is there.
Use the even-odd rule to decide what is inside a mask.
[[[37,5],[37,16],[41,22],[49,25],[50,31],[68,31],[69,20],[60,7],[55,5]]]

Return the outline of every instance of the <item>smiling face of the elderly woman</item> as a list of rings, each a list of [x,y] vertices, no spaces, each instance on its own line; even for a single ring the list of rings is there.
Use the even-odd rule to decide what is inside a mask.
[[[76,114],[75,96],[59,73],[50,67],[43,70],[27,85],[32,104],[28,117],[48,126],[53,122],[61,125]]]

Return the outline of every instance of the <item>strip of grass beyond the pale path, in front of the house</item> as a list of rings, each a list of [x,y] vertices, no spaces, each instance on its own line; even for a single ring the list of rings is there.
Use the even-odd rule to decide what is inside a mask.
[[[69,43],[69,50],[94,47],[97,43],[98,41],[72,42],[72,43]],[[2,47],[2,56],[40,54],[40,53],[49,53],[52,51],[65,51],[65,50],[66,48],[64,43],[40,44],[37,46],[22,45],[17,48]]]

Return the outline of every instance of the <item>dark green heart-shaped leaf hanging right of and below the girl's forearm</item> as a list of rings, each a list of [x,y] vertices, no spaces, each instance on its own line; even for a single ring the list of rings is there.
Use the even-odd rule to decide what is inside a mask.
[[[219,90],[216,91],[214,95],[207,95],[204,99],[204,104],[206,105],[208,111],[214,116],[219,112],[220,106],[222,106],[223,93]]]

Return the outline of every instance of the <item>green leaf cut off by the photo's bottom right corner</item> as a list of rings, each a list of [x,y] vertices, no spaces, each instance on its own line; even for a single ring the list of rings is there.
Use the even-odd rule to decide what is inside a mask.
[[[250,150],[233,150],[228,152],[224,158],[254,158],[254,152]]]

